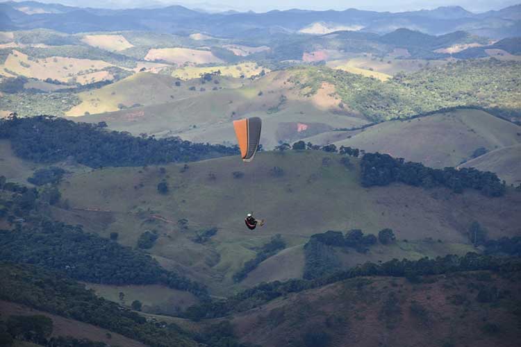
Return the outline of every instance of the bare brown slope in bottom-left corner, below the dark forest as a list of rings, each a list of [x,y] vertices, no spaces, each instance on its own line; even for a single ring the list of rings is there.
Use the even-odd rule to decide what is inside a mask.
[[[62,316],[56,316],[56,314],[50,314],[47,312],[34,310],[31,307],[19,305],[17,303],[10,303],[8,301],[0,301],[0,311],[2,315],[0,318],[3,319],[9,315],[20,315],[20,316],[33,316],[40,314],[47,316],[53,321],[53,332],[51,336],[71,336],[76,339],[90,339],[92,341],[101,341],[110,346],[128,346],[128,347],[144,347],[145,345],[139,341],[129,339],[117,332],[111,332],[104,328],[99,328],[95,325],[76,321],[74,319],[67,319]],[[110,338],[107,335],[110,333]],[[23,345],[22,345],[23,346]]]

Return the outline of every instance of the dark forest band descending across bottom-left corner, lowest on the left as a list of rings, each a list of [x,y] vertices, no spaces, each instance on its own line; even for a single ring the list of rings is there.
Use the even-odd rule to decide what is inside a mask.
[[[138,313],[97,297],[63,274],[28,264],[0,262],[0,276],[2,300],[97,325],[149,346],[195,345],[179,326],[147,322]]]

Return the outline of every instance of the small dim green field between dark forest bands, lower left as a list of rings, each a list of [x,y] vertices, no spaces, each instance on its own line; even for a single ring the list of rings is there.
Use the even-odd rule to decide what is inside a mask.
[[[143,304],[142,312],[161,312],[163,314],[179,314],[190,305],[198,302],[188,291],[179,291],[162,285],[97,285],[85,283],[85,287],[93,289],[97,296],[122,305],[130,306],[135,300]],[[124,299],[119,300],[119,293]]]

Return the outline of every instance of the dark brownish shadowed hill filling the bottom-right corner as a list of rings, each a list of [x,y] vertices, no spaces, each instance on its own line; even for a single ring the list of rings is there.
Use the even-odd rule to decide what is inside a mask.
[[[288,294],[234,314],[232,323],[240,341],[266,347],[513,347],[521,334],[511,306],[519,301],[514,287],[489,272],[429,276],[420,283],[355,278]],[[483,294],[490,290],[512,294],[488,301]]]

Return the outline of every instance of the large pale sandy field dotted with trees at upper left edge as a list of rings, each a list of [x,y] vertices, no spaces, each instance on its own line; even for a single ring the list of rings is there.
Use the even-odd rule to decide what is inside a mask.
[[[110,67],[102,60],[50,57],[44,59],[30,58],[24,53],[13,50],[0,69],[9,73],[15,72],[28,78],[45,80],[51,78],[60,82],[76,82],[82,85],[99,81],[112,81],[114,76],[108,71],[100,71]]]

